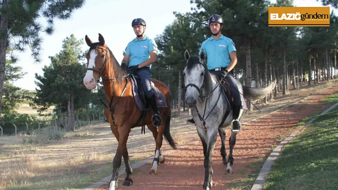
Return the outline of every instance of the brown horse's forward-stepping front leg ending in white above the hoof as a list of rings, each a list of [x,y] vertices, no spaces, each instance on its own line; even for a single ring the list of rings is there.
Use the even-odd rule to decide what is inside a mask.
[[[113,159],[113,175],[111,182],[109,184],[109,190],[115,190],[117,188],[118,177],[119,177],[119,168],[122,162],[122,155],[126,149],[128,136],[130,133],[130,127],[122,126],[118,128],[119,132],[119,144],[117,146],[116,154]]]

